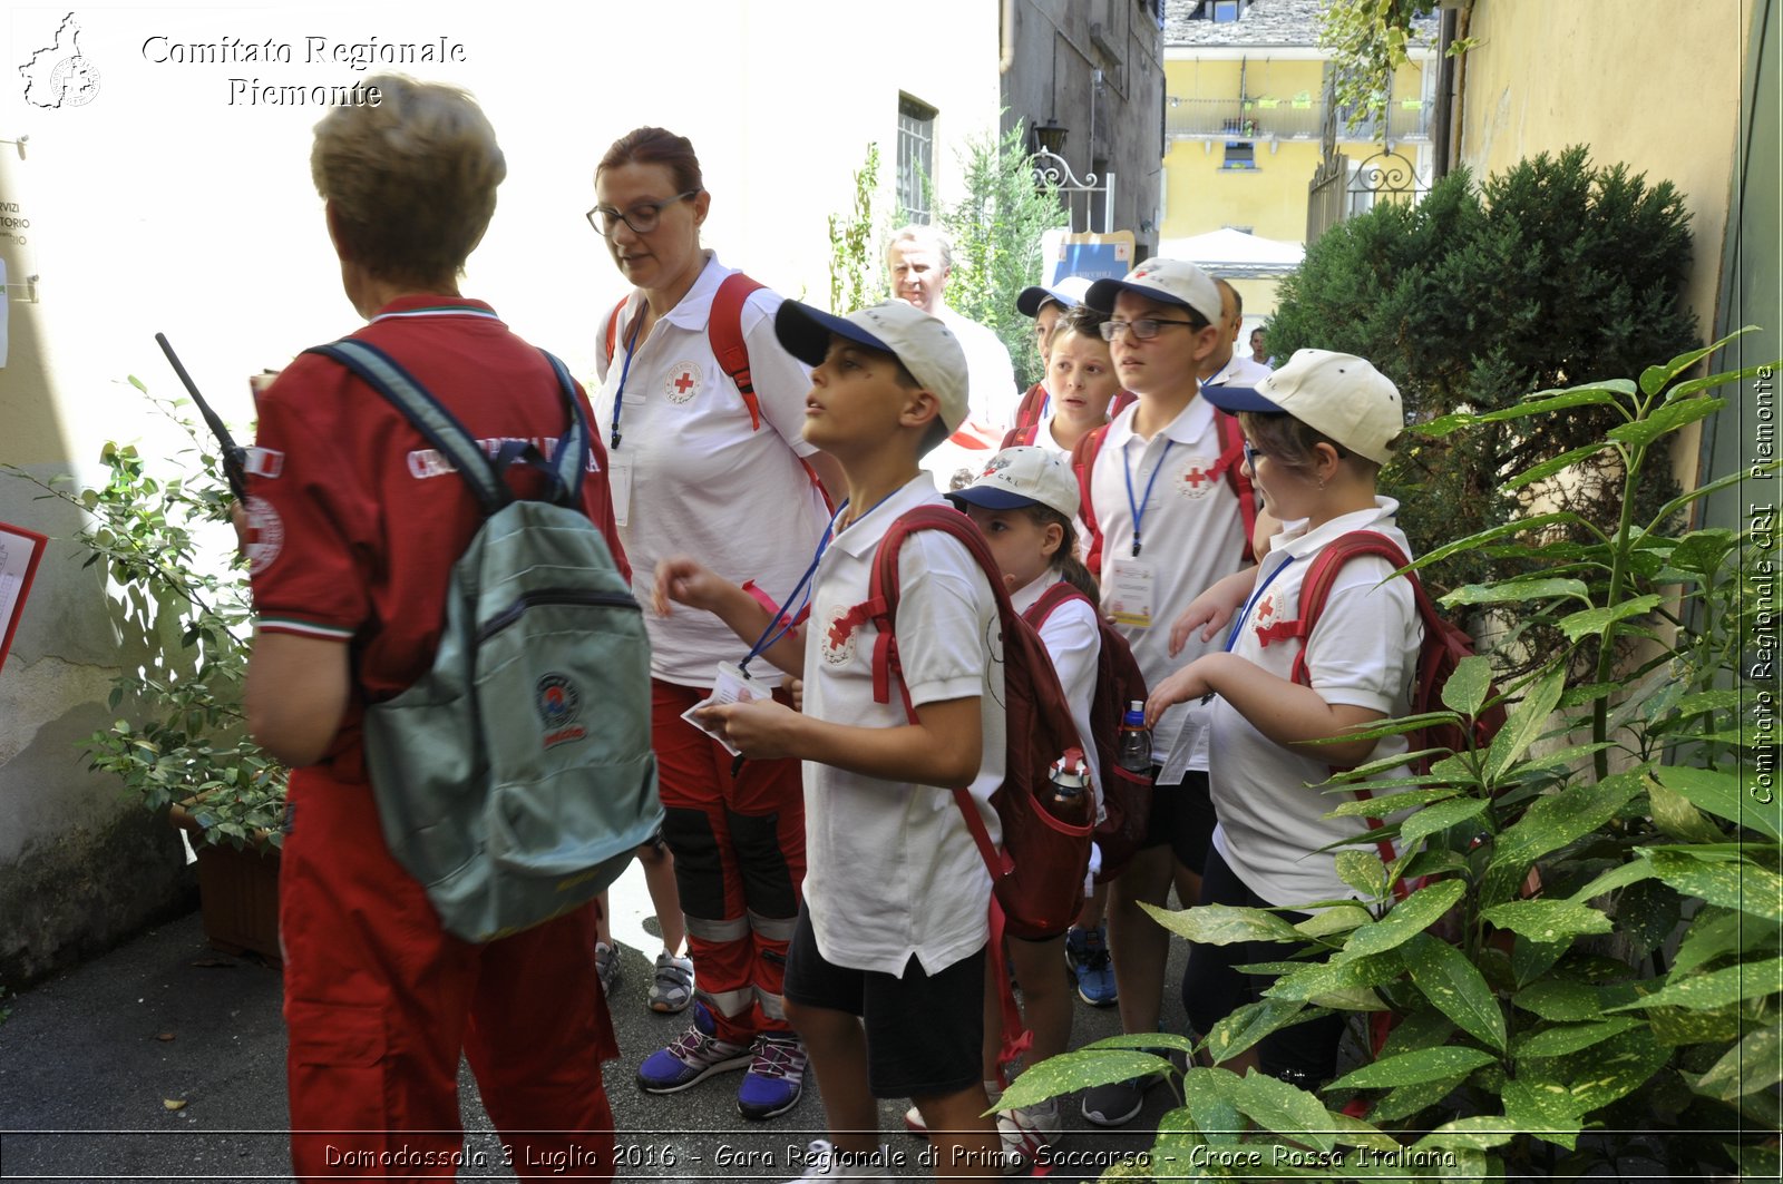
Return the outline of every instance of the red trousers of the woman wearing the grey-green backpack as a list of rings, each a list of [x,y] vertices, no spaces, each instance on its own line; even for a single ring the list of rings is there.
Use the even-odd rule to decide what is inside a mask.
[[[617,1056],[594,906],[489,945],[440,929],[383,845],[371,786],[291,776],[280,865],[291,1159],[300,1180],[442,1179],[464,1159],[458,1056],[521,1179],[612,1179]]]

